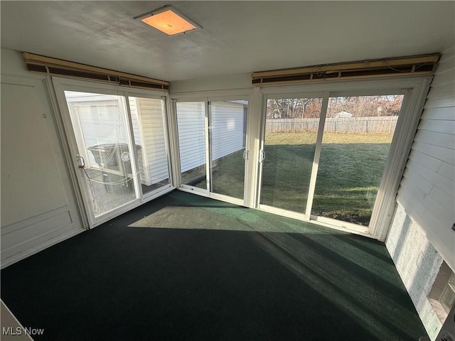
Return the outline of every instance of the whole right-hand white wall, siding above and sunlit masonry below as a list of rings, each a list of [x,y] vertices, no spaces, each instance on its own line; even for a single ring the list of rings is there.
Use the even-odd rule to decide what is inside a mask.
[[[444,259],[455,270],[455,47],[444,51],[397,195],[386,246],[430,337],[427,296]]]

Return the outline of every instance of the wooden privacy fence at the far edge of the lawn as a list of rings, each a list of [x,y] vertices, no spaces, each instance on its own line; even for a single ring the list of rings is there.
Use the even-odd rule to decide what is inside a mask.
[[[393,134],[397,116],[328,118],[324,131],[329,133]],[[319,119],[267,119],[268,133],[318,131]]]

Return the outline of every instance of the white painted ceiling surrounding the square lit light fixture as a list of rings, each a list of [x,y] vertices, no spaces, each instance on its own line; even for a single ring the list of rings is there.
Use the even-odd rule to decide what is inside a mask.
[[[134,20],[173,4],[179,36]],[[154,77],[219,75],[441,52],[454,1],[1,1],[1,48]]]

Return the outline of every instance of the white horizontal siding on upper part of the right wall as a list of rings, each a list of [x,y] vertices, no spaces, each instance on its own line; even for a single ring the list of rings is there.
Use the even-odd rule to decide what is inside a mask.
[[[455,270],[454,165],[455,52],[451,48],[443,54],[427,96],[397,202]]]

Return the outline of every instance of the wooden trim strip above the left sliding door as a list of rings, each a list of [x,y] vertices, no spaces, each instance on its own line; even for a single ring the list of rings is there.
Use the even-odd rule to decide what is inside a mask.
[[[156,80],[154,78],[45,57],[43,55],[33,55],[27,52],[23,53],[23,60],[26,63],[27,69],[32,72],[88,78],[97,81],[104,80],[127,87],[155,88],[161,90],[168,90],[169,87],[169,82],[164,80]]]

